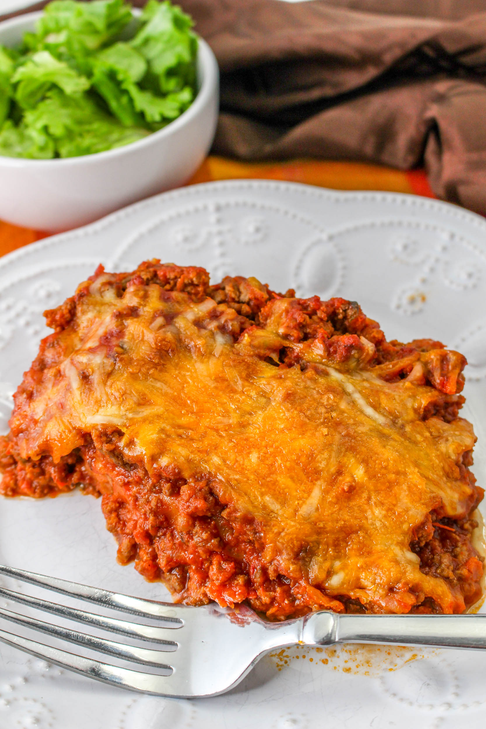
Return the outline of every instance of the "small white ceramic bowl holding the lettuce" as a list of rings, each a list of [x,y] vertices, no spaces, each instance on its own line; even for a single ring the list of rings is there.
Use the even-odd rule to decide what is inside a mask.
[[[0,44],[19,43],[40,15],[0,23]],[[0,219],[58,232],[187,182],[211,147],[218,117],[218,64],[203,39],[197,77],[197,97],[184,114],[126,147],[63,160],[0,156]]]

